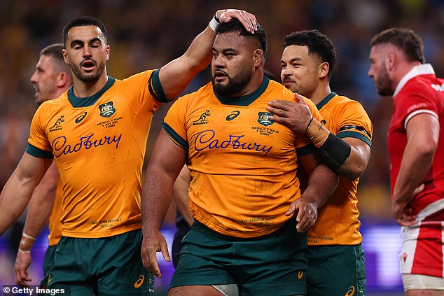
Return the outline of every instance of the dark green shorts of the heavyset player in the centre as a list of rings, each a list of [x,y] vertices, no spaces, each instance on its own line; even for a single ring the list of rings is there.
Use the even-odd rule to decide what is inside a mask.
[[[237,284],[240,295],[306,295],[307,237],[291,219],[263,237],[241,239],[195,222],[182,240],[170,288]]]

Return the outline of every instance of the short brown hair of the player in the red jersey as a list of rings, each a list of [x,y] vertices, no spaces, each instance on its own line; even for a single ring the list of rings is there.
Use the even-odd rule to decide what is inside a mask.
[[[370,40],[370,46],[382,43],[395,45],[404,52],[410,62],[419,61],[421,64],[426,62],[422,38],[412,29],[401,27],[385,29]]]

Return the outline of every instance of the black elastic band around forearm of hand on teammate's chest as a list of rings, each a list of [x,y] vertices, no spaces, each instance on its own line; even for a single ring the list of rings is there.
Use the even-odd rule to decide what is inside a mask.
[[[349,157],[352,148],[344,140],[330,133],[317,150],[329,167],[339,169]]]

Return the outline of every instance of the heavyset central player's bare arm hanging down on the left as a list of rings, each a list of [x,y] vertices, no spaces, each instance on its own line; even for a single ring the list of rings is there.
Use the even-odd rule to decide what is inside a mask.
[[[158,278],[162,274],[156,253],[162,252],[163,258],[170,260],[167,241],[160,233],[160,227],[171,202],[174,181],[185,164],[185,159],[186,150],[176,145],[162,129],[146,168],[141,196],[141,258],[144,267]]]

